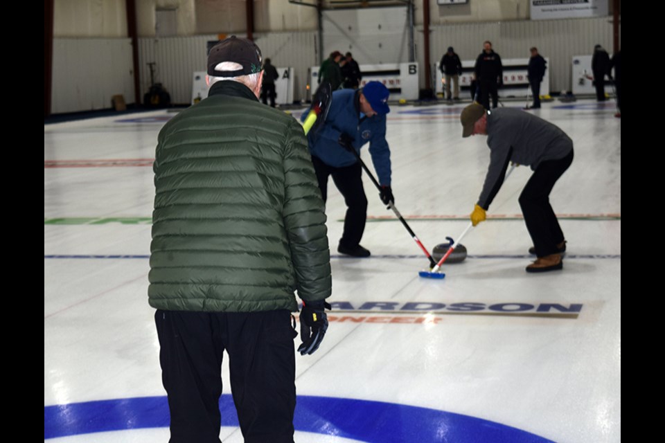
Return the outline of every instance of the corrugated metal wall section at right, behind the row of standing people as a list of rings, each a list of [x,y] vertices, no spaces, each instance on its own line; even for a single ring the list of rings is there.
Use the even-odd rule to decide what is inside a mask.
[[[601,44],[611,51],[611,17],[542,21],[504,21],[492,23],[456,24],[430,28],[432,62],[441,60],[448,46],[453,46],[462,60],[475,60],[483,42],[490,40],[502,58],[529,57],[529,48],[536,46],[549,57],[548,69],[551,91],[571,89],[570,63],[574,55],[591,54],[594,45]],[[423,30],[416,33],[417,58],[424,66]],[[420,69],[424,73],[424,69]],[[425,78],[420,78],[424,87]]]

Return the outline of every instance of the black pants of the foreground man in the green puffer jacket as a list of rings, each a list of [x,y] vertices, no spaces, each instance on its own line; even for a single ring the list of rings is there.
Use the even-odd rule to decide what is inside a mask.
[[[220,442],[222,354],[245,442],[293,442],[296,336],[290,312],[157,310],[171,443]]]

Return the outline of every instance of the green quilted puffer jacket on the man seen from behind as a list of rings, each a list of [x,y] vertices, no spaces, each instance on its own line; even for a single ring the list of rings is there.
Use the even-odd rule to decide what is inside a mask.
[[[321,192],[301,125],[238,82],[161,129],[154,161],[150,305],[296,311],[330,296]]]

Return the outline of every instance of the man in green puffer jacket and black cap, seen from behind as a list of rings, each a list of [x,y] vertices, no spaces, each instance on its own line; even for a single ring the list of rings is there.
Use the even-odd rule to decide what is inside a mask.
[[[293,442],[294,291],[301,354],[328,327],[326,215],[301,125],[258,101],[260,50],[208,57],[209,96],[159,132],[150,306],[171,443],[220,442],[222,356],[246,442]]]

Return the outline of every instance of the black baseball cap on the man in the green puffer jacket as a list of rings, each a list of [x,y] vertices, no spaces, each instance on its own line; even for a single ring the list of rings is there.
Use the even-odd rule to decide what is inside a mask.
[[[215,66],[222,62],[235,62],[242,65],[236,71],[217,71]],[[263,55],[256,43],[242,37],[231,37],[213,46],[208,54],[208,75],[215,77],[238,77],[255,74],[263,70]]]

